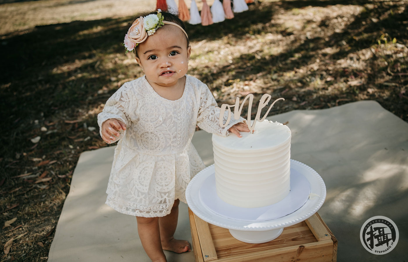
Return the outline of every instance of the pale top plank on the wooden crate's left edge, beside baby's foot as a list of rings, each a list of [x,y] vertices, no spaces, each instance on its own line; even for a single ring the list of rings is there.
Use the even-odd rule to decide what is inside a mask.
[[[198,239],[200,240],[200,246],[204,262],[217,260],[217,252],[215,252],[213,237],[211,236],[208,223],[194,215],[195,226],[197,228]]]

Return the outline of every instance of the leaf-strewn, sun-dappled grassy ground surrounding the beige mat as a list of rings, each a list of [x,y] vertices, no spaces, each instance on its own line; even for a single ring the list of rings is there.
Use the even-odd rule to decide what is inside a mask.
[[[102,141],[96,117],[142,76],[121,43],[138,12],[155,6],[145,3],[0,1],[0,261],[47,260],[80,153],[115,145]],[[248,93],[284,97],[273,115],[369,99],[408,121],[407,5],[259,1],[232,20],[187,24],[189,74],[219,105]]]

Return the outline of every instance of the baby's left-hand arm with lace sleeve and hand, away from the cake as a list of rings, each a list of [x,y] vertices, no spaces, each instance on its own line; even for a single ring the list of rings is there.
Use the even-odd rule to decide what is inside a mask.
[[[125,83],[106,101],[102,112],[98,114],[100,136],[106,143],[122,139],[124,130],[130,126],[131,119],[127,112],[133,96],[128,89]]]

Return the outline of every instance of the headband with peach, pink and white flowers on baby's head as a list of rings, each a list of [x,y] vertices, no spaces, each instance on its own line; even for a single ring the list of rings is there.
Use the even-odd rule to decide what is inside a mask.
[[[184,29],[173,22],[164,21],[164,16],[160,13],[162,10],[157,9],[157,15],[151,14],[145,17],[140,17],[133,22],[129,28],[128,33],[125,35],[124,46],[126,53],[132,51],[138,44],[144,42],[148,35],[153,35],[159,27],[164,24],[172,24],[180,28],[188,39],[188,35]]]

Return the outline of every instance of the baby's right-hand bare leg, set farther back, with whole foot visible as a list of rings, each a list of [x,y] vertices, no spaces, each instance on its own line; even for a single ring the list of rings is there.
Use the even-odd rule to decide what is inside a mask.
[[[174,232],[177,227],[178,205],[180,200],[174,200],[174,205],[171,208],[170,214],[159,218],[160,224],[160,239],[164,250],[173,251],[175,253],[183,253],[191,251],[190,244],[186,240],[177,240],[174,238]]]

